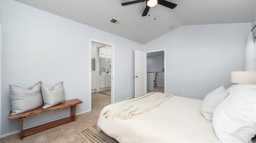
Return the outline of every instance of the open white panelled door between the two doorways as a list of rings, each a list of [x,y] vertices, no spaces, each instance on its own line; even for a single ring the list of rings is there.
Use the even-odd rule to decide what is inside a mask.
[[[135,50],[135,98],[147,94],[147,53]]]

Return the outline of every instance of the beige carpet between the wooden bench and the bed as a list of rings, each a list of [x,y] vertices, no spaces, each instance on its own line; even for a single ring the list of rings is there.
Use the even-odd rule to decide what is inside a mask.
[[[108,104],[110,104],[110,96],[92,93],[92,111],[76,116],[76,121],[29,135],[23,140],[20,140],[20,133],[10,135],[1,138],[0,143],[88,143],[78,133],[96,125],[100,111]]]

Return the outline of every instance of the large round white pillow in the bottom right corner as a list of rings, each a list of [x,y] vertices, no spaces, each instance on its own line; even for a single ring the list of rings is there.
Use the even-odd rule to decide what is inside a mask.
[[[252,142],[256,134],[256,89],[230,94],[215,109],[212,126],[222,143]]]

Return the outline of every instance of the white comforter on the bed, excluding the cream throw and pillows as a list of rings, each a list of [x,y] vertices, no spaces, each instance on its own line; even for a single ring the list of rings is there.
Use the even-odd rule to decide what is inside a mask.
[[[98,129],[119,142],[220,142],[201,114],[202,100],[173,96],[153,110],[132,119],[98,119]]]

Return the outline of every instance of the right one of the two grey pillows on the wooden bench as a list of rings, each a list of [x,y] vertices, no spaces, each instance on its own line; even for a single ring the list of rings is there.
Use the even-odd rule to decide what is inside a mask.
[[[44,106],[43,109],[52,107],[65,101],[63,82],[56,84],[53,88],[41,85]]]

